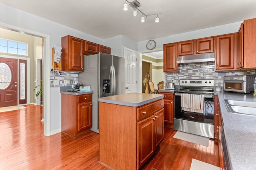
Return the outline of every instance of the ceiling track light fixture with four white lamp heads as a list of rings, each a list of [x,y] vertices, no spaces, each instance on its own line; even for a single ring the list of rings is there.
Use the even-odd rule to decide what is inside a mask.
[[[124,11],[127,11],[127,10],[128,10],[128,4],[126,4],[126,2],[128,2],[129,5],[130,5],[132,8],[134,8],[133,16],[137,16],[137,10],[142,13],[141,22],[144,22],[144,21],[145,21],[145,17],[144,17],[144,16],[148,17],[148,16],[154,16],[154,15],[157,16],[155,22],[159,22],[159,17],[158,17],[158,15],[159,15],[159,14],[163,14],[163,13],[144,14],[141,10],[138,9],[138,7],[140,7],[140,2],[138,2],[137,0],[134,0],[134,1],[132,1],[132,2],[129,2],[128,0],[124,0]]]

